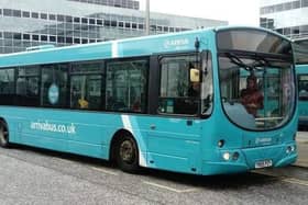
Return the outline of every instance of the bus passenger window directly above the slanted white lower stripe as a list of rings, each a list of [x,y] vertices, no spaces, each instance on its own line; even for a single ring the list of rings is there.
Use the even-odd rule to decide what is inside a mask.
[[[147,70],[147,59],[109,62],[106,79],[106,110],[144,113]]]

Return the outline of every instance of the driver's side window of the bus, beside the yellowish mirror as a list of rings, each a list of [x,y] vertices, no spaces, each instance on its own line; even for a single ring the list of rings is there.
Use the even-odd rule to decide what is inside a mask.
[[[200,83],[189,80],[191,65],[196,65],[196,55],[162,59],[160,113],[184,115],[196,115],[198,113]]]

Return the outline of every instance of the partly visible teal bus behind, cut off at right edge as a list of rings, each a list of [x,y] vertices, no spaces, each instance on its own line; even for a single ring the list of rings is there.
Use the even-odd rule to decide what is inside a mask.
[[[298,84],[298,127],[308,129],[308,37],[294,41]]]

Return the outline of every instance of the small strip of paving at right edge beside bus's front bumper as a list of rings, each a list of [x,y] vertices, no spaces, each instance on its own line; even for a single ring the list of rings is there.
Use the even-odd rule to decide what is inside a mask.
[[[298,158],[294,166],[308,168],[308,132],[298,132],[296,141]]]

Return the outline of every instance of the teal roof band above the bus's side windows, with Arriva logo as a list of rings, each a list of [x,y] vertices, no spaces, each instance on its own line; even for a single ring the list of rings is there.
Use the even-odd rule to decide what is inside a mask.
[[[270,30],[258,27],[221,26],[66,47],[53,48],[50,46],[42,46],[43,49],[38,48],[29,52],[0,55],[0,68],[195,50],[196,38],[202,44],[208,44],[209,38],[215,39],[215,32],[237,29],[260,30],[273,33]],[[278,35],[277,33],[273,34]]]

